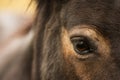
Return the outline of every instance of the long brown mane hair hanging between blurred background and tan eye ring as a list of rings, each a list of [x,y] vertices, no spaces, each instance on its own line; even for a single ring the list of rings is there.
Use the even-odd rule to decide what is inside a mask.
[[[37,46],[35,46],[33,70],[33,79],[35,80],[43,78],[49,80],[50,77],[51,80],[55,80],[55,78],[65,79],[65,75],[63,74],[65,72],[62,71],[64,61],[62,61],[62,55],[60,54],[61,29],[59,12],[62,8],[61,6],[66,2],[66,0],[38,0],[36,22],[38,33],[35,43]],[[50,62],[48,63],[48,61]],[[39,69],[42,69],[42,71],[38,71]],[[58,73],[61,74],[55,76]]]

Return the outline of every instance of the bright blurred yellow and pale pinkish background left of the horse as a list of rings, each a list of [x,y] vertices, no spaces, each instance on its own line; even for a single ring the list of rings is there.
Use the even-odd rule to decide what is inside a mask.
[[[0,76],[15,75],[29,50],[35,9],[34,0],[0,0]],[[14,68],[11,63],[15,63]],[[5,80],[10,80],[9,76]]]

